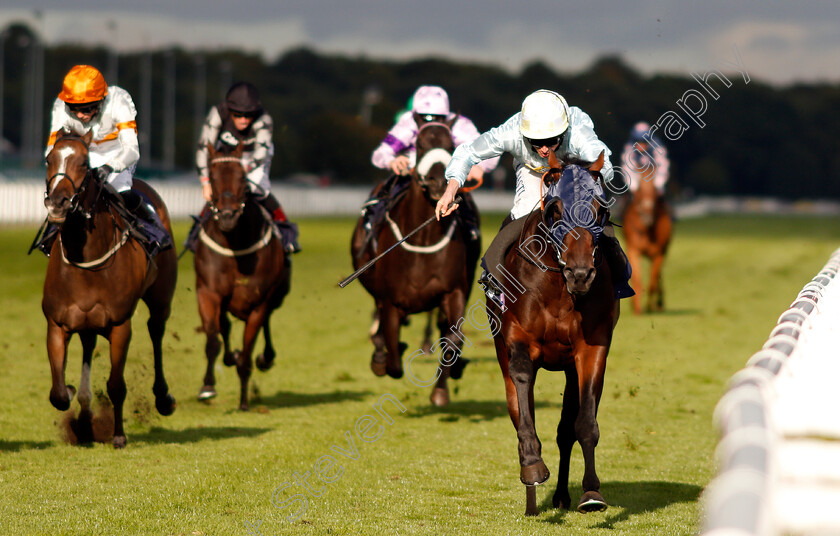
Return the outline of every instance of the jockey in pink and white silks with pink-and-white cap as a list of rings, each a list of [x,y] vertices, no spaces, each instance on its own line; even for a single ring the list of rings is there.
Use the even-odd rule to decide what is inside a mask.
[[[374,166],[390,170],[393,175],[374,188],[371,198],[364,205],[362,214],[368,231],[382,221],[387,200],[407,184],[406,178],[416,164],[417,148],[414,143],[420,127],[426,123],[443,123],[452,120],[455,121],[452,123],[452,142],[455,147],[470,143],[478,137],[478,129],[472,121],[449,110],[449,95],[442,87],[420,86],[417,88],[411,98],[411,109],[400,114],[396,124],[391,127],[385,139],[371,155]],[[473,166],[467,174],[468,186],[471,188],[480,186],[484,180],[484,173],[492,171],[498,163],[499,159],[496,157]],[[470,238],[477,240],[480,235],[478,213],[475,207],[470,206],[464,214],[461,214],[461,217]]]

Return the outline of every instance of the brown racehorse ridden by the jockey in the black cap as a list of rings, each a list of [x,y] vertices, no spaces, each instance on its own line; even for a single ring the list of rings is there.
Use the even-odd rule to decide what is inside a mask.
[[[270,215],[254,200],[242,168],[242,144],[232,151],[208,146],[212,217],[199,231],[195,248],[198,312],[207,341],[207,371],[199,400],[216,396],[213,366],[224,344],[223,362],[236,365],[239,374],[239,409],[248,410],[248,380],[251,354],[262,330],[265,349],[257,356],[257,368],[266,371],[276,355],[271,343],[269,320],[289,293],[291,265],[286,262],[283,242]],[[228,313],[245,322],[242,351],[230,349]]]

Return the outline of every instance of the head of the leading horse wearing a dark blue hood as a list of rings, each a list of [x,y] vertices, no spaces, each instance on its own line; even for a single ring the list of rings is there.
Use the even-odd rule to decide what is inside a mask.
[[[543,221],[551,230],[551,243],[570,294],[589,292],[603,257],[598,239],[608,217],[603,190],[598,183],[604,153],[594,163],[561,163],[552,153]]]

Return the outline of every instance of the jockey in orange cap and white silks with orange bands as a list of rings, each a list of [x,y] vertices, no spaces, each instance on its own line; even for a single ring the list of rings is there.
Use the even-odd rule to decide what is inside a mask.
[[[171,247],[172,239],[151,206],[131,189],[140,159],[136,116],[134,101],[126,90],[108,86],[95,67],[76,65],[64,77],[62,90],[53,104],[45,154],[52,150],[62,129],[76,134],[93,131],[89,149],[91,172],[106,188],[120,194],[126,208],[138,218],[134,222],[141,231],[138,238],[145,239],[144,246],[154,256],[157,251]],[[37,246],[47,255],[56,231],[57,227],[48,228]]]

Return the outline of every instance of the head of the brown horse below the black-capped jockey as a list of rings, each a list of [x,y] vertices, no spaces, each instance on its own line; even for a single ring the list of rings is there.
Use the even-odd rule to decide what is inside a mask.
[[[210,210],[222,231],[236,227],[248,197],[248,179],[242,167],[242,143],[232,150],[207,146],[210,169]]]

